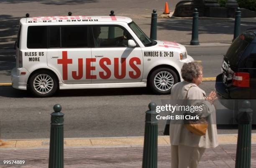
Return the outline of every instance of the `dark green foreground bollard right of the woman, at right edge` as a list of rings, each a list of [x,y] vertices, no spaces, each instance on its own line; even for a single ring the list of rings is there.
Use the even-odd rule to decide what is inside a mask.
[[[246,100],[238,112],[238,139],[236,147],[236,168],[251,167],[251,122],[253,110]]]

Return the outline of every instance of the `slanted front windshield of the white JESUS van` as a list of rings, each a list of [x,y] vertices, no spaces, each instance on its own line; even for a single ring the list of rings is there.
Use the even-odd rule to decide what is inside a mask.
[[[147,37],[147,35],[136,25],[135,22],[128,24],[131,30],[136,34],[136,36],[141,40],[144,46],[148,46],[153,43],[153,40]]]

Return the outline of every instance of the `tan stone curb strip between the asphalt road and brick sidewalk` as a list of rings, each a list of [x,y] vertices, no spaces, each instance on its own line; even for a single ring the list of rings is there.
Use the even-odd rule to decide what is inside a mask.
[[[49,139],[9,139],[3,140],[0,150],[49,148]],[[237,143],[237,134],[218,135],[220,145]],[[256,133],[252,133],[252,143],[256,143]],[[98,137],[98,138],[64,138],[65,148],[113,148],[143,146],[143,136]],[[158,146],[169,146],[169,136],[158,136]]]

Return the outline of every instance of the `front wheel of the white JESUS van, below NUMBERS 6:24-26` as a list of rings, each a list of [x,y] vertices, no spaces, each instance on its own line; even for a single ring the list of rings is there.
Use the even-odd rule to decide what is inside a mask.
[[[178,76],[170,68],[156,69],[149,77],[149,86],[156,94],[170,94],[172,86],[177,82]]]

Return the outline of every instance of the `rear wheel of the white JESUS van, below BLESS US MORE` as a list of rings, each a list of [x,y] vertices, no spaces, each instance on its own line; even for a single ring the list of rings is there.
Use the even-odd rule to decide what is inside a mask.
[[[48,71],[40,71],[33,74],[28,86],[37,97],[52,96],[58,88],[55,75]]]

